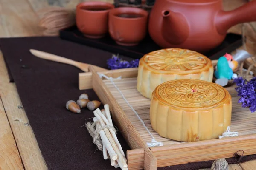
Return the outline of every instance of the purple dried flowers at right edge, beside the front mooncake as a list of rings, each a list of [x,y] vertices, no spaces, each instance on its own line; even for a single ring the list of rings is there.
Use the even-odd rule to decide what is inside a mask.
[[[249,108],[253,113],[256,111],[256,77],[250,81],[244,80],[242,77],[234,79],[236,82],[237,96],[240,96],[238,100],[242,104],[243,108]]]

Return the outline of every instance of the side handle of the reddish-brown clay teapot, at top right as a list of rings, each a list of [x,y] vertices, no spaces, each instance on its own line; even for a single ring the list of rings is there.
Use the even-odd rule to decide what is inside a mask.
[[[219,11],[215,17],[215,26],[218,33],[224,35],[232,26],[252,21],[256,21],[256,0],[232,11]]]

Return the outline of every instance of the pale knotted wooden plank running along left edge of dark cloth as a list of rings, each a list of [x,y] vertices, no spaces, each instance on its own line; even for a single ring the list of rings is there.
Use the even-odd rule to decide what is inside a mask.
[[[24,109],[19,108],[22,104],[16,85],[9,83],[9,76],[2,53],[0,53],[0,77],[0,96],[25,169],[47,170],[26,113]],[[2,130],[0,131],[1,133],[3,133]]]

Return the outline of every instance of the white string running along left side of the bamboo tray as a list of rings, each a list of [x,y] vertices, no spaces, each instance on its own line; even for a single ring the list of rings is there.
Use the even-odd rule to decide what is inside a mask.
[[[140,118],[139,114],[134,110],[134,108],[130,105],[130,103],[127,101],[127,99],[125,98],[124,94],[122,94],[122,91],[120,91],[120,89],[116,86],[116,84],[113,82],[113,78],[112,77],[108,77],[105,74],[99,74],[99,77],[102,78],[106,78],[108,80],[111,81],[111,83],[113,84],[113,86],[119,91],[119,93],[122,95],[122,98],[125,100],[125,102],[127,103],[127,105],[131,108],[131,110],[135,113],[135,115],[137,116],[137,118],[140,120],[140,122],[142,123],[142,125],[145,127],[145,129],[148,131],[149,135],[151,136],[152,140],[151,143],[147,142],[148,147],[155,147],[155,146],[163,146],[162,142],[157,142],[156,139],[154,139],[154,136],[152,135],[152,133],[148,130],[148,127],[146,127],[145,123],[143,122],[143,120]],[[116,79],[121,79],[122,77],[117,77]]]

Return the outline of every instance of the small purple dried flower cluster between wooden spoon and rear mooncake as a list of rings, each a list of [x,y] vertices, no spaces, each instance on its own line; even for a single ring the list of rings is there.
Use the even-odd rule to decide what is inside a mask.
[[[135,68],[139,66],[139,59],[134,59],[131,62],[120,59],[118,56],[113,55],[112,58],[107,60],[108,68],[111,70],[120,68]]]

